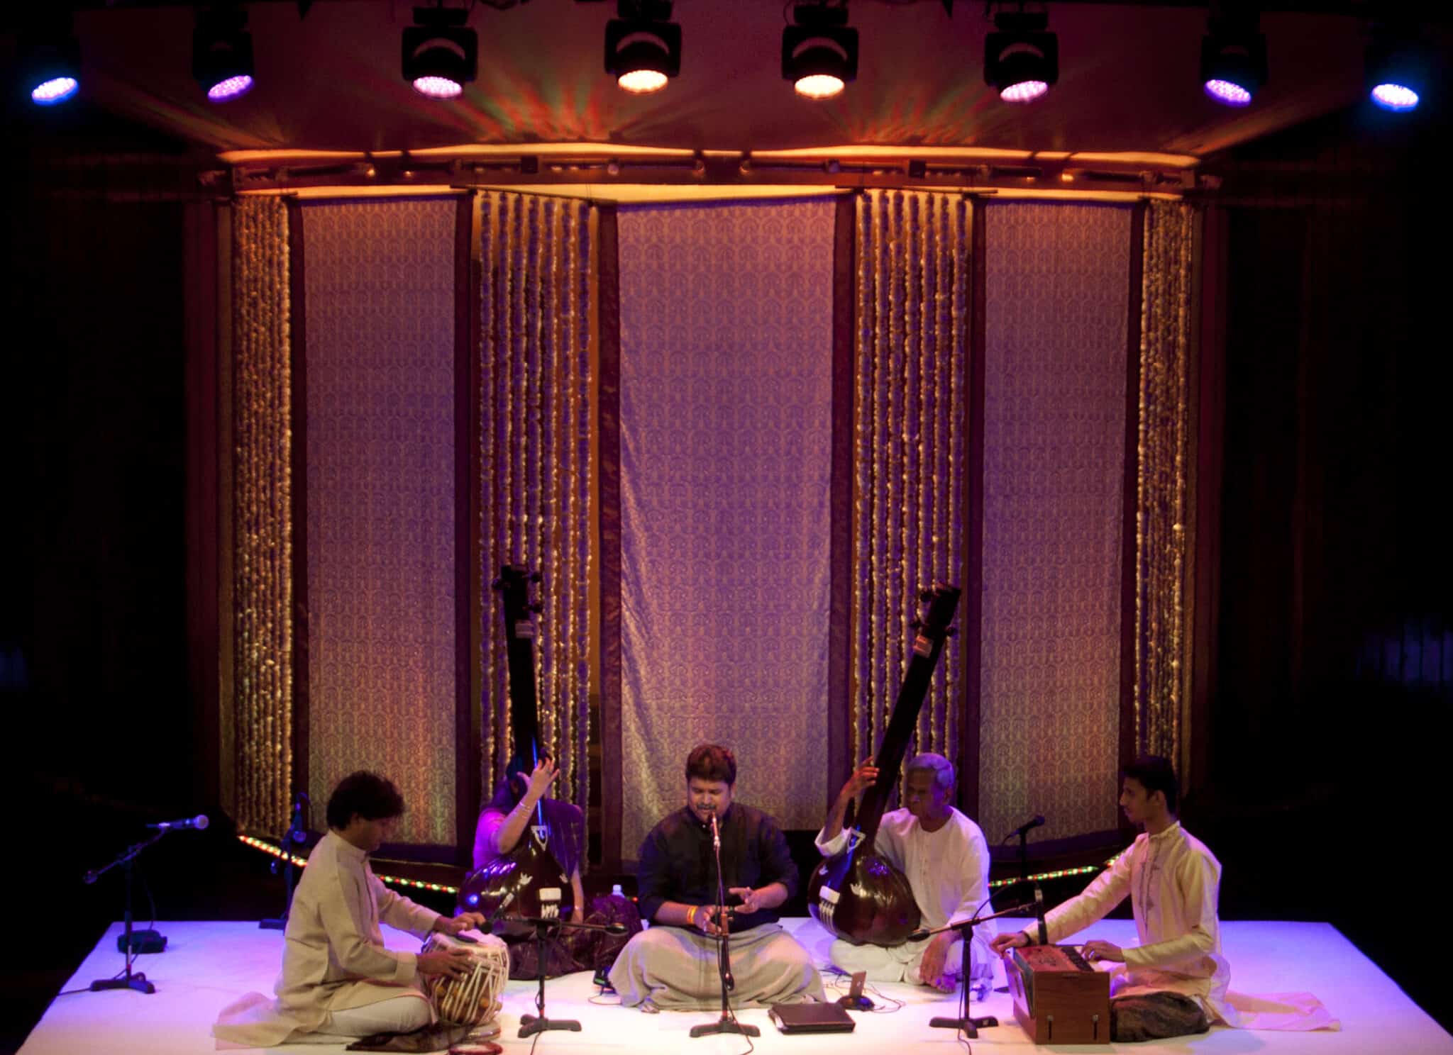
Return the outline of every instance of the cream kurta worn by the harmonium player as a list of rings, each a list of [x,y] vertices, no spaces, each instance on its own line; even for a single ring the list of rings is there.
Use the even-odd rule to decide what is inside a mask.
[[[1221,862],[1177,821],[1158,834],[1141,833],[1081,894],[1045,916],[1051,942],[1062,942],[1101,920],[1130,895],[1139,945],[1125,949],[1112,996],[1180,993],[1206,1017],[1235,1023],[1226,1007],[1231,965],[1221,955],[1216,898]],[[1026,927],[1033,942],[1037,927]]]

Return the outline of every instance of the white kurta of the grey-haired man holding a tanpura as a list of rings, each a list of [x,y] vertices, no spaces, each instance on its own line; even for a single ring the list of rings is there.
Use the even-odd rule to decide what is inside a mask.
[[[847,830],[835,839],[824,842],[818,832],[817,847],[822,856],[833,856],[847,849]],[[889,863],[908,877],[912,898],[918,903],[926,929],[942,927],[955,920],[968,920],[979,906],[989,898],[989,847],[984,832],[962,813],[949,808],[949,820],[937,832],[926,832],[918,818],[908,810],[894,810],[883,814],[878,826],[876,849]],[[975,962],[992,962],[988,942],[994,939],[994,921],[981,923],[974,929]],[[910,980],[917,980],[914,969],[927,943],[915,943],[914,955],[905,962]],[[950,956],[958,956],[952,952]],[[899,958],[901,959],[901,958]],[[958,961],[950,959],[953,968]],[[847,966],[838,964],[838,966]],[[928,980],[931,981],[931,980]]]

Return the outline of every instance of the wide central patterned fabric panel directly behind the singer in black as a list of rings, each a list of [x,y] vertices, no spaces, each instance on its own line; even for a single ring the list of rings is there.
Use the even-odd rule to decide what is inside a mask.
[[[833,202],[622,208],[622,853],[703,740],[817,827],[827,781]]]

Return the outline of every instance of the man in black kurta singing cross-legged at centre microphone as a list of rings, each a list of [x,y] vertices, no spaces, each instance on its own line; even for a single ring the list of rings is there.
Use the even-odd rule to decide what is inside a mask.
[[[726,921],[732,1006],[822,1000],[812,956],[777,923],[777,907],[798,887],[788,840],[772,817],[732,800],[735,784],[731,750],[711,743],[693,749],[686,759],[686,805],[641,843],[639,906],[651,927],[626,943],[610,971],[626,1007],[721,1006],[724,900],[732,907]]]

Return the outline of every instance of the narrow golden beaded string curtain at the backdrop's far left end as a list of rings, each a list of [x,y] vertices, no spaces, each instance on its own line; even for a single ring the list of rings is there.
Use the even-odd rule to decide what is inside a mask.
[[[232,679],[237,826],[280,832],[292,781],[288,212],[232,203]]]

